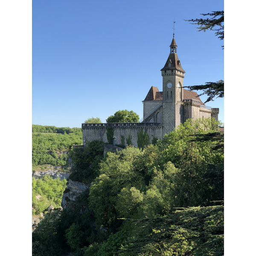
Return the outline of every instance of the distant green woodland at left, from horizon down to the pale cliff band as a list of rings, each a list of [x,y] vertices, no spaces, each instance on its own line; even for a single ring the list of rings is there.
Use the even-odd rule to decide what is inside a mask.
[[[32,165],[67,166],[67,151],[81,141],[81,128],[32,125]]]

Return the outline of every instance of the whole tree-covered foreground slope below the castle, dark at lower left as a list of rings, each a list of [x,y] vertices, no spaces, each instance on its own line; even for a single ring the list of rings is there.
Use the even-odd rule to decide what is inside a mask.
[[[224,152],[214,119],[187,120],[155,145],[103,156],[73,151],[74,179],[91,180],[32,233],[35,256],[222,256]],[[211,139],[207,139],[207,136]]]

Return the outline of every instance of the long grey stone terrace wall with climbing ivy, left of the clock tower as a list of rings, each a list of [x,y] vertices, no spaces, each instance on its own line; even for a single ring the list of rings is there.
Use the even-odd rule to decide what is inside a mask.
[[[124,136],[125,139],[131,137],[132,145],[137,147],[137,133],[140,131],[140,129],[143,129],[143,132],[147,132],[150,143],[152,142],[153,137],[157,137],[158,139],[163,138],[162,123],[83,123],[82,130],[84,145],[88,141],[93,140],[102,140],[104,143],[108,143],[107,128],[109,127],[114,129],[115,144],[121,144],[121,136]]]

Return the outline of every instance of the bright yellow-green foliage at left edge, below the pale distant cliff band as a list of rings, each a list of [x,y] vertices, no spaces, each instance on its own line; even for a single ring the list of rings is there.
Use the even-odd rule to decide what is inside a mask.
[[[32,213],[39,214],[50,204],[53,207],[60,207],[66,183],[65,179],[53,179],[49,175],[37,180],[32,177]]]

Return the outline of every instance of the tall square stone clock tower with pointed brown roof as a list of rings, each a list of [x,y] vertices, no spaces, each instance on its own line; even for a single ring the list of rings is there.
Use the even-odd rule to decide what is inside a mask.
[[[183,123],[183,78],[185,70],[177,56],[177,44],[174,39],[170,45],[170,54],[161,69],[163,77],[163,135]]]

